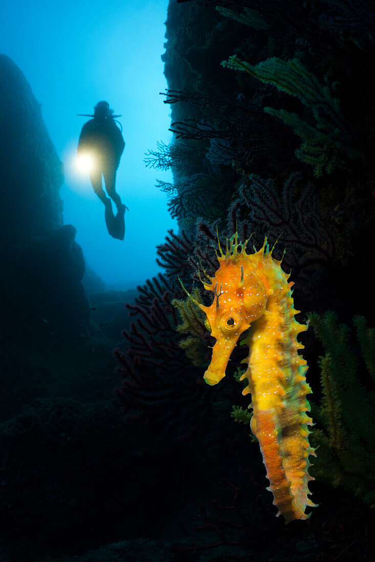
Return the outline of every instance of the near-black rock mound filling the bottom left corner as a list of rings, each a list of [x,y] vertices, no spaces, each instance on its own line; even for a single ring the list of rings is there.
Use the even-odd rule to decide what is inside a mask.
[[[0,545],[4,534],[14,541],[13,560],[84,552],[148,529],[162,452],[140,466],[136,442],[113,404],[35,400],[0,424],[0,443]]]

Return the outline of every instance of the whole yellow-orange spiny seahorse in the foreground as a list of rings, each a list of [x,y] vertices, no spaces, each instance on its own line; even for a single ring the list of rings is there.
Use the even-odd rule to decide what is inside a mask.
[[[252,395],[251,430],[260,443],[270,481],[267,490],[274,495],[277,515],[288,523],[309,518],[305,508],[315,505],[307,497],[308,482],[314,479],[308,472],[309,455],[316,456],[308,439],[312,420],[306,414],[311,389],[306,361],[298,355],[303,346],[297,342],[307,325],[294,320],[299,311],[293,308],[293,283],[288,283],[282,260],[272,257],[267,238],[259,251],[254,247],[255,253],[246,252],[247,243],[240,243],[235,233],[227,239],[224,253],[218,242],[220,268],[215,277],[203,270],[204,288],[215,296],[211,306],[194,302],[205,312],[206,327],[216,338],[204,379],[217,384],[225,377],[238,338],[249,329],[241,342],[249,346],[242,375],[249,384],[243,394]]]

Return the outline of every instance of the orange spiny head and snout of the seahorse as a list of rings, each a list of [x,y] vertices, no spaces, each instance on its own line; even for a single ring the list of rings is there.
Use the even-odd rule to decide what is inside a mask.
[[[216,339],[211,364],[204,373],[207,384],[217,384],[225,377],[226,365],[238,338],[264,313],[270,294],[260,274],[259,252],[249,255],[245,246],[246,243],[238,242],[237,233],[227,240],[225,253],[219,243],[220,268],[215,277],[206,274],[207,282],[203,282],[204,288],[214,293],[214,298],[211,306],[199,306],[206,313],[206,327]]]

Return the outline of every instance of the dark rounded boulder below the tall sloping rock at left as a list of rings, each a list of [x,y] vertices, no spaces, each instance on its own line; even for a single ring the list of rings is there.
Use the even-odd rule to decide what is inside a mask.
[[[70,224],[60,226],[17,252],[7,300],[8,315],[17,324],[37,333],[47,327],[63,337],[86,334],[90,305],[81,283],[85,266],[76,232]]]

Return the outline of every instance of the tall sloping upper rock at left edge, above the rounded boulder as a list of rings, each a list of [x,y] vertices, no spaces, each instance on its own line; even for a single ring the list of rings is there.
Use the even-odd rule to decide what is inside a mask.
[[[63,223],[64,175],[41,105],[5,55],[0,55],[0,76],[0,233],[8,246]]]

